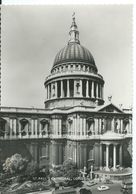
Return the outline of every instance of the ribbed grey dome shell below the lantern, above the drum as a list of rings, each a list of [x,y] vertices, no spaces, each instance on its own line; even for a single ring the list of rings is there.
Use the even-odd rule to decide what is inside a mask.
[[[83,62],[95,65],[90,51],[77,42],[69,42],[67,46],[57,53],[53,67],[66,62]]]

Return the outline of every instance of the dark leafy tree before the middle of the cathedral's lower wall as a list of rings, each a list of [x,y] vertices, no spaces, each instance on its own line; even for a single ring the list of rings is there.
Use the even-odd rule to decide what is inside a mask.
[[[71,159],[64,161],[62,168],[64,176],[70,180],[74,180],[79,176],[76,163],[74,163]]]

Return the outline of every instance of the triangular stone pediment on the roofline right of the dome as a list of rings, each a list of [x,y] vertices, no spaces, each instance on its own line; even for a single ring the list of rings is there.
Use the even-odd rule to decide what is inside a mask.
[[[123,111],[118,108],[117,106],[115,106],[114,104],[108,104],[105,105],[103,107],[100,107],[100,109],[98,110],[98,112],[109,112],[109,113],[123,113]]]

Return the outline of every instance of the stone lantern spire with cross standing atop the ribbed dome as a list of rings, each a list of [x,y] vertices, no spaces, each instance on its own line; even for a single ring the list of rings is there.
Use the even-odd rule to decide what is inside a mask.
[[[69,35],[70,35],[70,40],[68,42],[69,43],[77,43],[77,44],[80,44],[80,41],[79,41],[79,31],[78,31],[78,28],[77,28],[77,25],[76,25],[76,22],[75,22],[75,12],[73,12],[72,14],[72,24],[71,24],[71,27],[70,27],[70,32],[69,32]]]

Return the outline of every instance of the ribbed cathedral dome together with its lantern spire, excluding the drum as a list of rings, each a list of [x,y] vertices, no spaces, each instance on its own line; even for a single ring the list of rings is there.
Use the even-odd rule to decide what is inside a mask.
[[[59,64],[65,63],[87,63],[91,66],[95,66],[95,61],[90,51],[80,44],[79,31],[74,15],[69,35],[70,39],[68,44],[57,53],[53,68]]]

